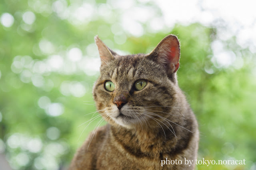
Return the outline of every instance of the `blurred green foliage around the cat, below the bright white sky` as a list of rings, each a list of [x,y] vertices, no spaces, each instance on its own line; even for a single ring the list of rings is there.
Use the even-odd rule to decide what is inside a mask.
[[[235,170],[248,170],[255,164],[255,59],[249,57],[252,54],[248,49],[236,44],[235,38],[222,43],[226,50],[240,56],[240,68],[214,62],[211,45],[218,39],[215,28],[199,23],[176,24],[172,30],[152,33],[143,26],[142,36],[123,33],[126,40],[117,43],[119,35],[112,31],[115,22],[119,23],[117,17],[110,21],[91,17],[76,25],[56,12],[37,11],[36,3],[51,10],[54,2],[0,3],[0,15],[8,12],[14,17],[12,26],[0,25],[0,140],[5,143],[4,153],[12,168],[50,170],[62,163],[67,166],[86,136],[106,123],[100,123],[100,117],[86,122],[98,115],[92,99],[92,86],[99,74],[96,61],[100,62],[94,45],[97,34],[110,48],[130,54],[148,53],[166,35],[177,35],[181,42],[178,82],[200,126],[198,159],[246,159],[247,164]],[[97,0],[94,7],[104,3]],[[33,24],[24,22],[26,11],[34,12]],[[118,14],[114,9],[112,12]],[[73,48],[82,52],[78,61],[68,56]],[[50,161],[47,166],[46,161]],[[230,169],[225,165],[197,168]]]

